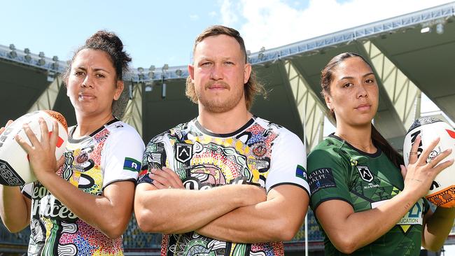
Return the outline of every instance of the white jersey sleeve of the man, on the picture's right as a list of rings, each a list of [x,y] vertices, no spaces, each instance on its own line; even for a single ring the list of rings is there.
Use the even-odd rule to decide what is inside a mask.
[[[278,185],[296,185],[309,194],[307,182],[307,154],[300,138],[284,130],[278,141],[274,142],[270,159],[269,175],[265,181],[265,189]]]

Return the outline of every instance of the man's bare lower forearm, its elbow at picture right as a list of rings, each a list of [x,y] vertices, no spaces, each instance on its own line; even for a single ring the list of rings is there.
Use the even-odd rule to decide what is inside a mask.
[[[259,204],[237,208],[196,232],[235,243],[292,239],[307,213],[309,198],[304,190],[293,185],[283,185],[277,189],[280,196],[272,195],[274,198]],[[272,193],[269,192],[269,197]]]

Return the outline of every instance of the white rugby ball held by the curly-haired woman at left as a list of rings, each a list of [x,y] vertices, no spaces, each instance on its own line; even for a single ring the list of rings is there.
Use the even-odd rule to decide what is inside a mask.
[[[66,142],[68,141],[68,126],[62,114],[55,111],[34,111],[15,120],[11,125],[6,127],[0,134],[0,183],[8,186],[20,186],[34,182],[36,177],[30,167],[27,152],[22,149],[19,143],[15,140],[15,135],[19,134],[27,143],[30,143],[25,134],[22,125],[28,124],[31,130],[36,135],[38,140],[41,140],[41,128],[38,118],[43,118],[48,125],[48,130],[52,131],[52,120],[56,119],[59,126],[59,138],[57,148],[55,148],[55,157],[62,157]]]

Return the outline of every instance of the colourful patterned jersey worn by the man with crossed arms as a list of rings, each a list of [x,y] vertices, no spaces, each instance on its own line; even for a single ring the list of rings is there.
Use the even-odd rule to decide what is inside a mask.
[[[155,136],[146,147],[138,183],[152,183],[148,173],[162,166],[174,170],[187,190],[254,184],[268,192],[292,184],[309,192],[302,141],[261,118],[232,134],[211,133],[192,120]],[[164,235],[161,255],[283,255],[283,243],[229,243],[189,232]]]

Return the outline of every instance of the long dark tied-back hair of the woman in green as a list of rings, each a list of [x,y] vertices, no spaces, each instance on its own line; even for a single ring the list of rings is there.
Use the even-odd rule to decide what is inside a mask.
[[[357,53],[354,52],[343,52],[342,54],[339,54],[332,59],[330,59],[330,62],[328,62],[327,65],[325,65],[324,69],[321,71],[321,87],[322,87],[322,96],[325,98],[325,95],[330,95],[330,83],[332,83],[333,77],[333,71],[337,68],[338,64],[343,62],[344,59],[349,59],[351,57],[359,57],[360,59],[363,60],[368,66],[370,66],[370,69],[372,69],[370,63],[367,62],[365,58],[363,58],[361,55],[358,55]],[[335,112],[328,109],[328,115],[332,120],[335,120],[337,122],[337,119],[335,118]],[[384,138],[381,134],[379,134],[379,131],[374,127],[373,124],[371,124],[371,139],[378,148],[384,152],[384,154],[388,157],[388,159],[391,160],[395,166],[400,169],[400,164],[404,165],[405,162],[403,160],[402,155],[393,148],[386,138]]]

